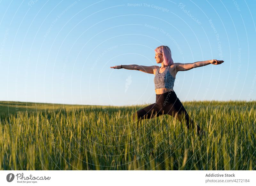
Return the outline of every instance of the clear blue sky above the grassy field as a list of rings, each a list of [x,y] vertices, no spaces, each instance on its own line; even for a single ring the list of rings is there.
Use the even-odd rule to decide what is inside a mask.
[[[154,103],[154,74],[110,66],[156,65],[160,45],[178,63],[225,61],[178,72],[181,102],[255,100],[255,7],[247,0],[2,0],[0,100]]]

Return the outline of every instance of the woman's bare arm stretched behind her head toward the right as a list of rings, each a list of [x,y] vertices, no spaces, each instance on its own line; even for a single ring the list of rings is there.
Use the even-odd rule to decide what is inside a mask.
[[[175,64],[176,71],[186,71],[186,70],[190,70],[192,68],[205,66],[205,65],[209,65],[209,64],[219,65],[223,62],[224,62],[223,60],[212,59],[212,60],[207,60],[207,61],[197,61],[195,63],[174,63],[174,64]]]

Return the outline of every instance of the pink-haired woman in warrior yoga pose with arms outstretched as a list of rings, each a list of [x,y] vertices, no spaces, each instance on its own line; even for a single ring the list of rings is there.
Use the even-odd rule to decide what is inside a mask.
[[[185,119],[188,129],[197,128],[197,134],[201,134],[202,131],[199,126],[195,126],[193,120],[189,118],[189,115],[177,97],[173,90],[174,81],[176,74],[179,71],[187,71],[192,68],[205,66],[209,64],[218,65],[223,63],[222,60],[207,60],[198,61],[195,63],[174,63],[172,60],[172,53],[168,46],[159,46],[155,50],[156,52],[156,63],[161,64],[159,66],[140,66],[140,65],[119,65],[111,66],[110,68],[115,69],[128,69],[128,70],[139,70],[148,74],[155,74],[154,83],[156,91],[156,103],[146,106],[138,110],[133,115],[135,121],[136,114],[138,119],[150,119],[158,117],[163,114],[169,114],[174,118],[182,121]]]

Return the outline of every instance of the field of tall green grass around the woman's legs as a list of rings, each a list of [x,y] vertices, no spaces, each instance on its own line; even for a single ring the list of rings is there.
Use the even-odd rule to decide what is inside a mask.
[[[142,106],[0,102],[1,170],[256,170],[256,102],[184,102],[200,139]]]

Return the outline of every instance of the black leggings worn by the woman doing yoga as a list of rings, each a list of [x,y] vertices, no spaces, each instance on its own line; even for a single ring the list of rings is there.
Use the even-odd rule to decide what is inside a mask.
[[[145,108],[138,110],[136,113],[138,119],[150,119],[163,114],[169,114],[179,121],[182,121],[185,116],[187,128],[195,128],[194,121],[189,118],[186,109],[174,91],[168,91],[164,94],[156,94],[156,103],[148,105]],[[135,119],[134,115],[133,119]],[[201,133],[199,126],[197,126],[197,133]]]

